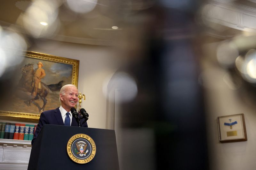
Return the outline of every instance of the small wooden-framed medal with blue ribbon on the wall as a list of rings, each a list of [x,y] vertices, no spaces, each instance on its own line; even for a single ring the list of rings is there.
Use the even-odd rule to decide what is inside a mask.
[[[218,117],[218,129],[221,143],[247,140],[243,113]]]

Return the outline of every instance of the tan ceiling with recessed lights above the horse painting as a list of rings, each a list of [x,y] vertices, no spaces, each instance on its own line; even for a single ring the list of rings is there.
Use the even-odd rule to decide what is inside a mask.
[[[44,3],[36,6],[36,2],[40,2],[40,0],[4,0],[0,6],[0,25],[3,28],[15,29],[35,38],[109,45],[113,39],[122,35],[125,20],[128,15],[133,13],[133,7],[136,7],[132,1],[128,4],[117,0],[80,0],[80,2],[94,4],[95,7],[92,11],[79,13],[70,9],[68,1],[44,0]],[[79,0],[73,2],[79,2]],[[57,6],[53,4],[57,4]],[[32,9],[32,6],[36,6],[36,10]],[[52,8],[54,9],[52,10]],[[143,5],[140,8],[143,8]],[[140,8],[137,8],[136,11]],[[52,24],[45,27],[40,25],[39,20],[36,20],[39,18],[37,16],[40,15],[40,12],[44,15],[48,12],[46,14],[48,20],[54,18]],[[55,18],[55,14],[57,18]],[[45,16],[40,15],[40,17],[44,18]],[[112,26],[119,28],[114,30],[111,28]],[[47,30],[46,27],[48,27]],[[49,32],[49,34],[45,36],[43,34],[45,32]]]

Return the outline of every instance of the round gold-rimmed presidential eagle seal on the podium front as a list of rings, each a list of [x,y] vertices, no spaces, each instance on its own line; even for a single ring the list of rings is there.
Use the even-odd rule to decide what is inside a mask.
[[[74,162],[86,164],[94,158],[96,145],[90,136],[80,133],[68,140],[67,152]]]

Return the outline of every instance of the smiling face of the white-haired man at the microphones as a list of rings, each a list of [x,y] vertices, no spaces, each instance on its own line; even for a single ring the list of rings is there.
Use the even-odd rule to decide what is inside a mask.
[[[72,107],[76,106],[78,102],[78,90],[76,87],[67,87],[63,94],[60,94],[61,106],[70,111]]]

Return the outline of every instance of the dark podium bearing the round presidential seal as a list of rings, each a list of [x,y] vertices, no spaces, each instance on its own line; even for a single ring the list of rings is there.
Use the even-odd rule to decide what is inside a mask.
[[[67,144],[76,134],[88,135],[95,143],[95,156],[88,163],[76,163],[68,156]],[[32,146],[28,170],[50,169],[119,170],[115,131],[45,124]]]

